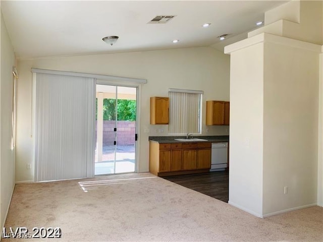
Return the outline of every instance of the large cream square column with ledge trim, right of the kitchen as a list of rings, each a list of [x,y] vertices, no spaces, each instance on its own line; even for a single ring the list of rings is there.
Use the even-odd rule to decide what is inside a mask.
[[[315,205],[321,46],[261,33],[225,52],[231,53],[229,204],[258,217]]]

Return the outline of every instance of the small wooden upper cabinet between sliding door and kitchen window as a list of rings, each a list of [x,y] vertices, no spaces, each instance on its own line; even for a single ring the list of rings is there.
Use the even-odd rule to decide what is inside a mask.
[[[168,125],[169,98],[150,97],[150,124]]]

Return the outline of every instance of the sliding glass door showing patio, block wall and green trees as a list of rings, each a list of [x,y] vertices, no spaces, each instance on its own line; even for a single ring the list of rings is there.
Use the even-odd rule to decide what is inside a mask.
[[[137,88],[96,85],[95,175],[134,172]]]

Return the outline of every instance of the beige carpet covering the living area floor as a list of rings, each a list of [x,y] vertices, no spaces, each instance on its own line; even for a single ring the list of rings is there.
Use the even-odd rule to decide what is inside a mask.
[[[149,173],[16,185],[5,227],[61,227],[58,239],[323,241],[323,208],[265,219]]]

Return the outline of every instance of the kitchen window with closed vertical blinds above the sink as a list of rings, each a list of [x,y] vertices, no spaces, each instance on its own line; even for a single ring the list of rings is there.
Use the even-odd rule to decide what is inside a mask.
[[[169,134],[200,134],[203,91],[169,89]]]

